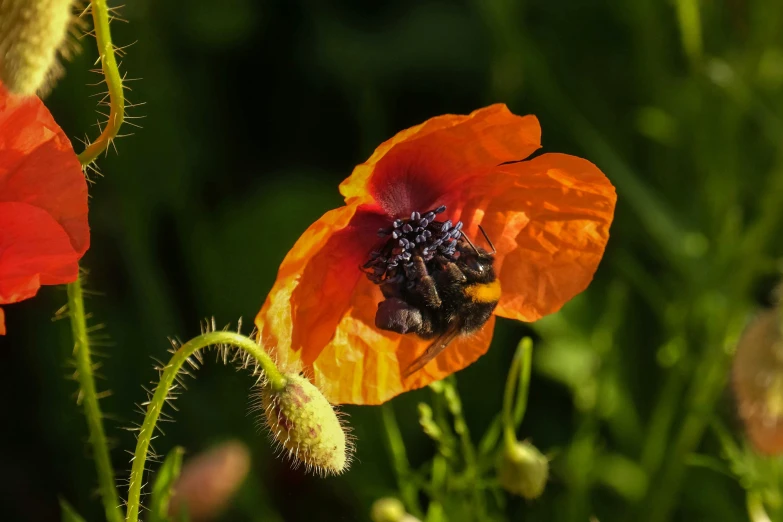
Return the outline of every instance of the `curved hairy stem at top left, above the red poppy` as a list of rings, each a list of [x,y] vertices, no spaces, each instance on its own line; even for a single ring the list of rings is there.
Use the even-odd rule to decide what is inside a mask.
[[[106,0],[90,0],[92,6],[92,20],[95,27],[95,39],[98,41],[98,53],[101,57],[101,68],[106,79],[106,87],[109,89],[109,121],[98,138],[90,143],[79,154],[82,165],[88,165],[95,161],[98,155],[105,151],[109,143],[117,137],[122,122],[125,120],[125,94],[122,91],[122,77],[117,68],[117,60],[114,57],[114,45],[111,42],[109,30],[109,8]]]

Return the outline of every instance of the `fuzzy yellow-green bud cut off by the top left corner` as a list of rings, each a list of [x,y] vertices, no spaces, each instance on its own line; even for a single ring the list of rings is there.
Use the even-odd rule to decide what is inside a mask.
[[[0,80],[33,95],[51,79],[71,23],[72,0],[0,0]]]

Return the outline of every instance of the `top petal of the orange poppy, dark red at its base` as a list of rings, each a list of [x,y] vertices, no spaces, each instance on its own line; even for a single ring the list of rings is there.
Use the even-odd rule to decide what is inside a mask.
[[[541,146],[535,116],[503,104],[446,115],[404,130],[378,147],[340,185],[346,202],[372,197],[392,217],[429,209],[456,180],[477,169],[525,159]]]

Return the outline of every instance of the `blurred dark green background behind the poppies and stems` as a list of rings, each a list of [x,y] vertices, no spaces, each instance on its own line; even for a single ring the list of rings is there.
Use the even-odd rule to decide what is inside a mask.
[[[112,28],[134,135],[91,188],[87,301],[105,324],[99,389],[120,478],[140,385],[168,336],[241,316],[246,331],[299,234],[341,204],[338,183],[395,132],[505,102],[536,114],[545,151],[615,183],[607,255],[589,291],[536,325],[499,321],[458,386],[473,434],[499,411],[511,354],[536,337],[520,432],[553,452],[543,498],[510,520],[747,520],[719,458],[718,417],[740,436],[730,354],[769,304],[783,241],[783,2],[779,0],[134,0]],[[96,136],[94,40],[47,99],[66,133]],[[75,148],[81,145],[74,139]],[[57,496],[102,519],[71,340],[45,288],[5,307],[0,338],[0,518],[59,520]],[[211,358],[211,357],[208,357]],[[291,471],[248,415],[251,378],[208,363],[158,453],[239,438],[250,478],[223,520],[368,520],[396,492],[377,408],[348,407],[357,461],[338,478]],[[411,461],[433,454],[416,405],[393,402]],[[716,461],[718,462],[718,461]],[[121,492],[123,490],[121,489]],[[456,520],[456,518],[455,518]]]

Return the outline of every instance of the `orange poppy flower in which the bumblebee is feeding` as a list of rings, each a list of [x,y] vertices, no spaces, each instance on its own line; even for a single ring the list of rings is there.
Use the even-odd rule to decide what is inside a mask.
[[[487,351],[494,317],[406,375],[432,340],[376,326],[386,301],[375,283],[385,276],[367,277],[362,267],[375,267],[379,242],[384,255],[392,253],[381,260],[394,266],[409,261],[409,246],[426,260],[419,241],[447,257],[458,241],[464,247],[462,234],[483,246],[481,225],[497,250],[502,292],[494,314],[501,317],[535,321],[584,290],[609,237],[615,190],[595,165],[574,156],[522,161],[540,139],[534,116],[492,105],[432,118],[378,147],[340,185],[345,206],[324,214],[288,253],[256,317],[278,363],[301,367],[334,403],[380,404]],[[417,228],[404,237],[393,232],[408,225]],[[402,239],[410,241],[384,246]]]

